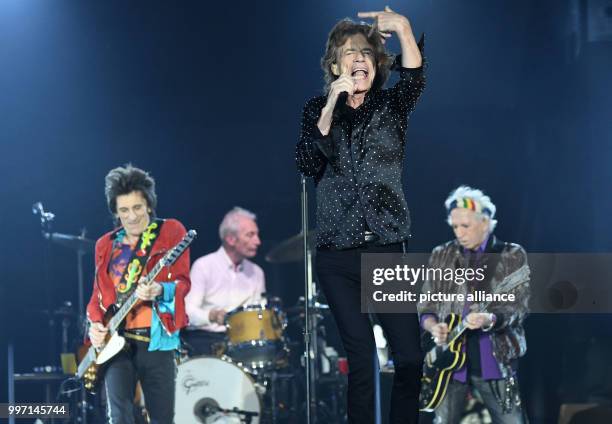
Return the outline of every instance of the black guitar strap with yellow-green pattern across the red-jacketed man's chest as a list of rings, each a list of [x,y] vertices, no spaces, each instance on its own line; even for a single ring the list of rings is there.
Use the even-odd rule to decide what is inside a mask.
[[[123,302],[125,302],[132,292],[136,290],[138,280],[145,269],[145,265],[149,259],[153,245],[159,237],[163,223],[164,221],[162,219],[154,220],[138,238],[136,247],[132,251],[132,256],[123,270],[123,275],[121,275],[119,284],[115,287],[117,295],[115,304],[118,308],[120,308]],[[115,241],[121,242],[119,239]]]

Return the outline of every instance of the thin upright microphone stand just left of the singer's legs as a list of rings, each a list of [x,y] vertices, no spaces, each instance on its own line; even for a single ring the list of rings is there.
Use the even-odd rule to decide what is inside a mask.
[[[308,243],[308,190],[306,177],[302,175],[302,237],[304,247],[304,359],[306,369],[306,424],[317,422],[316,397],[316,348],[317,331],[310,314],[314,302],[312,280],[312,253]]]

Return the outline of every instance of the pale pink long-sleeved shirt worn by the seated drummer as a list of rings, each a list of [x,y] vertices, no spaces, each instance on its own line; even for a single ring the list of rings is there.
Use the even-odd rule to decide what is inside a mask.
[[[210,322],[210,311],[229,312],[239,306],[259,303],[265,291],[262,269],[248,259],[236,267],[221,246],[191,266],[191,290],[185,297],[189,328],[225,331],[224,325]]]

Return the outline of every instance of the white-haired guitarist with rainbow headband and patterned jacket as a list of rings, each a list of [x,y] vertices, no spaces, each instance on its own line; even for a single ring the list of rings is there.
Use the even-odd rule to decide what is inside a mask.
[[[446,387],[426,381],[426,359],[421,408],[435,410],[435,423],[458,423],[465,409],[466,394],[472,390],[480,394],[493,423],[526,423],[517,382],[517,362],[527,350],[523,329],[529,300],[527,255],[521,246],[501,242],[493,235],[496,208],[482,191],[460,186],[446,199],[445,206],[456,239],[433,250],[429,267],[480,268],[484,270],[484,278],[464,284],[428,280],[423,293],[462,293],[467,300],[469,293],[484,288],[487,293],[513,293],[515,300],[418,305],[421,326],[427,331],[426,337],[431,338],[433,351],[454,349],[456,357],[461,358],[447,374]],[[457,325],[465,330],[453,342],[449,335],[458,334],[451,331]],[[432,369],[435,366],[429,371]],[[443,379],[440,381],[444,383]],[[432,397],[437,400],[431,401]]]

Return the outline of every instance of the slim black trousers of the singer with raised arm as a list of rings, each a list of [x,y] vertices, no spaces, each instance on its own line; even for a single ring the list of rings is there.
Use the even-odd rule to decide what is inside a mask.
[[[368,314],[361,313],[361,254],[402,252],[402,243],[367,245],[347,250],[318,250],[319,283],[338,325],[346,350],[348,419],[351,424],[374,423],[375,342]],[[378,314],[388,339],[395,375],[391,392],[390,422],[418,421],[422,352],[416,314]]]

